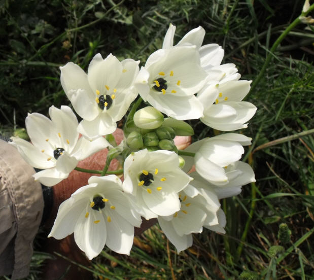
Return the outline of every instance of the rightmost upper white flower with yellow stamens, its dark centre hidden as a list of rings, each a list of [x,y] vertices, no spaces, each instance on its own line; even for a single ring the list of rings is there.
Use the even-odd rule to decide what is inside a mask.
[[[256,112],[256,107],[241,101],[250,91],[252,81],[228,81],[217,85],[208,85],[197,98],[204,104],[204,117],[200,120],[215,129],[231,131],[247,128]]]

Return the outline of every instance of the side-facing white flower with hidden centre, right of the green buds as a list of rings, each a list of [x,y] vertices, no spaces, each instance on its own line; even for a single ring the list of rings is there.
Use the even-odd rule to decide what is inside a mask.
[[[204,138],[185,149],[195,153],[195,156],[184,156],[186,163],[183,170],[188,172],[195,164],[196,171],[206,181],[214,185],[226,185],[229,179],[225,167],[241,158],[244,153],[242,145],[250,144],[251,138],[237,133]]]

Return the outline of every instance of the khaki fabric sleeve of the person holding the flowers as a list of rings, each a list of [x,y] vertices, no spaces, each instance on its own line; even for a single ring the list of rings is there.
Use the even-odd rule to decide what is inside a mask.
[[[44,208],[34,169],[0,139],[0,276],[26,277]]]

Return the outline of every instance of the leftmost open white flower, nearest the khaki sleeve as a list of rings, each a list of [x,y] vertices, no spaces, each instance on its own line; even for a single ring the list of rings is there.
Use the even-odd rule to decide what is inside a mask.
[[[39,113],[25,119],[29,142],[12,137],[14,145],[31,166],[44,169],[33,175],[35,180],[53,186],[68,177],[82,159],[109,146],[103,137],[90,142],[79,139],[78,120],[67,106],[49,108],[50,119]]]

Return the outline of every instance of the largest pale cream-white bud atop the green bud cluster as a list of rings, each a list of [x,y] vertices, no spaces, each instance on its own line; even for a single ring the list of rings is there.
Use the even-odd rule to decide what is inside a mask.
[[[162,125],[163,115],[154,107],[148,106],[135,112],[133,120],[139,128],[155,129]]]

